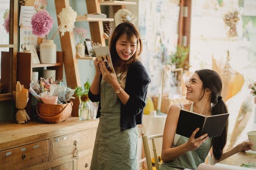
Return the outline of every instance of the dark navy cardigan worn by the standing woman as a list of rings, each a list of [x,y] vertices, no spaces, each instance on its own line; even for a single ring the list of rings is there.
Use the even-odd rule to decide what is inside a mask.
[[[100,82],[101,79],[102,76],[100,76]],[[121,130],[134,128],[136,125],[141,124],[147,87],[150,81],[150,77],[140,61],[136,61],[129,66],[124,91],[130,95],[130,98],[125,106],[121,103]],[[94,95],[91,90],[89,90],[89,99],[92,102],[99,102],[96,118],[100,117],[100,93]]]

